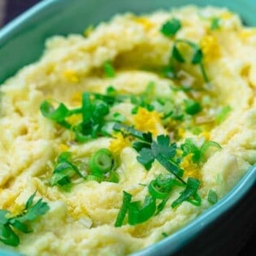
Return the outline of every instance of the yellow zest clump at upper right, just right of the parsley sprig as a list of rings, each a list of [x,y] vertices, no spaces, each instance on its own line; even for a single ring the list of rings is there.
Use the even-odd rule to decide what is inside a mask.
[[[206,61],[218,59],[220,56],[219,41],[216,37],[208,35],[203,37],[200,46]]]

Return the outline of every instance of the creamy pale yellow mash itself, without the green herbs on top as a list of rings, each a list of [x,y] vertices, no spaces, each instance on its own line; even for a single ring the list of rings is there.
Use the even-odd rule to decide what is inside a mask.
[[[175,36],[167,37],[160,30],[173,18],[180,20],[181,28]],[[199,66],[188,61],[176,62],[177,79],[159,72],[168,65],[178,39],[201,47],[208,82],[203,80]],[[180,46],[180,51],[189,52],[187,48]],[[106,61],[112,63],[115,76],[107,77],[102,71]],[[80,106],[83,92],[104,94],[111,85],[120,94],[138,95],[149,83],[154,84],[157,97],[170,98],[176,106],[193,98],[201,103],[202,111],[186,115],[184,122],[163,124],[161,113],[144,109],[132,114],[134,106],[124,101],[111,107],[109,115],[119,112],[126,117],[124,124],[150,131],[154,138],[169,134],[177,145],[189,137],[201,145],[215,141],[222,149],[210,150],[206,161],[195,170],[189,157],[180,163],[184,180],[189,176],[200,180],[200,206],[184,201],[172,208],[171,203],[182,191],[177,187],[158,215],[137,225],[128,224],[126,216],[123,225],[115,228],[123,191],[132,194],[132,202],[143,202],[150,181],[168,171],[157,161],[146,171],[137,161],[132,143],[122,136],[77,142],[72,130],[47,119],[40,106],[52,99],[72,109]],[[181,85],[192,91],[173,89]],[[30,223],[33,232],[17,231],[20,245],[15,249],[33,256],[124,255],[184,227],[211,206],[207,200],[210,189],[220,199],[256,162],[255,89],[256,30],[245,28],[238,15],[226,9],[184,7],[151,15],[116,15],[85,36],[50,38],[41,59],[0,88],[0,209],[19,214],[35,191],[36,199],[43,198],[50,206],[46,215]],[[227,115],[216,121],[225,107]],[[199,128],[197,132],[195,127]],[[102,148],[119,158],[119,182],[76,177],[70,191],[50,185],[61,152],[71,152],[72,158],[84,161],[86,166],[90,156]],[[0,247],[10,249],[1,242]]]

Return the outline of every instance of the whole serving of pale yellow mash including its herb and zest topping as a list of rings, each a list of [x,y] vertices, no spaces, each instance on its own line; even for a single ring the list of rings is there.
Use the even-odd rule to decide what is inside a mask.
[[[256,162],[256,30],[226,9],[116,15],[1,85],[0,247],[125,255]]]

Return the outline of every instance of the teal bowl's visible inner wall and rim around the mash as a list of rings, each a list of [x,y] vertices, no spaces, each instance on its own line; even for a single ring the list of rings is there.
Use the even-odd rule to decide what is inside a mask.
[[[24,65],[36,61],[42,54],[46,38],[52,35],[82,33],[89,25],[108,20],[115,13],[126,11],[145,13],[186,4],[228,7],[238,12],[245,24],[256,26],[256,1],[254,0],[46,0],[0,31],[0,83],[14,75]],[[223,200],[203,215],[173,236],[135,255],[170,255],[176,252],[186,241],[200,232],[203,226],[218,218],[225,210],[238,202],[254,186],[255,180],[256,168],[254,167]],[[173,245],[171,249],[168,247],[170,243]],[[4,252],[0,254],[14,255]]]

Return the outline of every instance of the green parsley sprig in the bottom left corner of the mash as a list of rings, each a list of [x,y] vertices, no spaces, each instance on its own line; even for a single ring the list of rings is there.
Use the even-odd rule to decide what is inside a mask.
[[[14,247],[20,245],[20,238],[15,229],[24,233],[33,232],[28,223],[41,215],[45,215],[50,210],[50,207],[42,201],[42,198],[33,203],[35,196],[36,192],[28,198],[20,215],[13,216],[9,210],[0,210],[0,241],[2,243]]]

